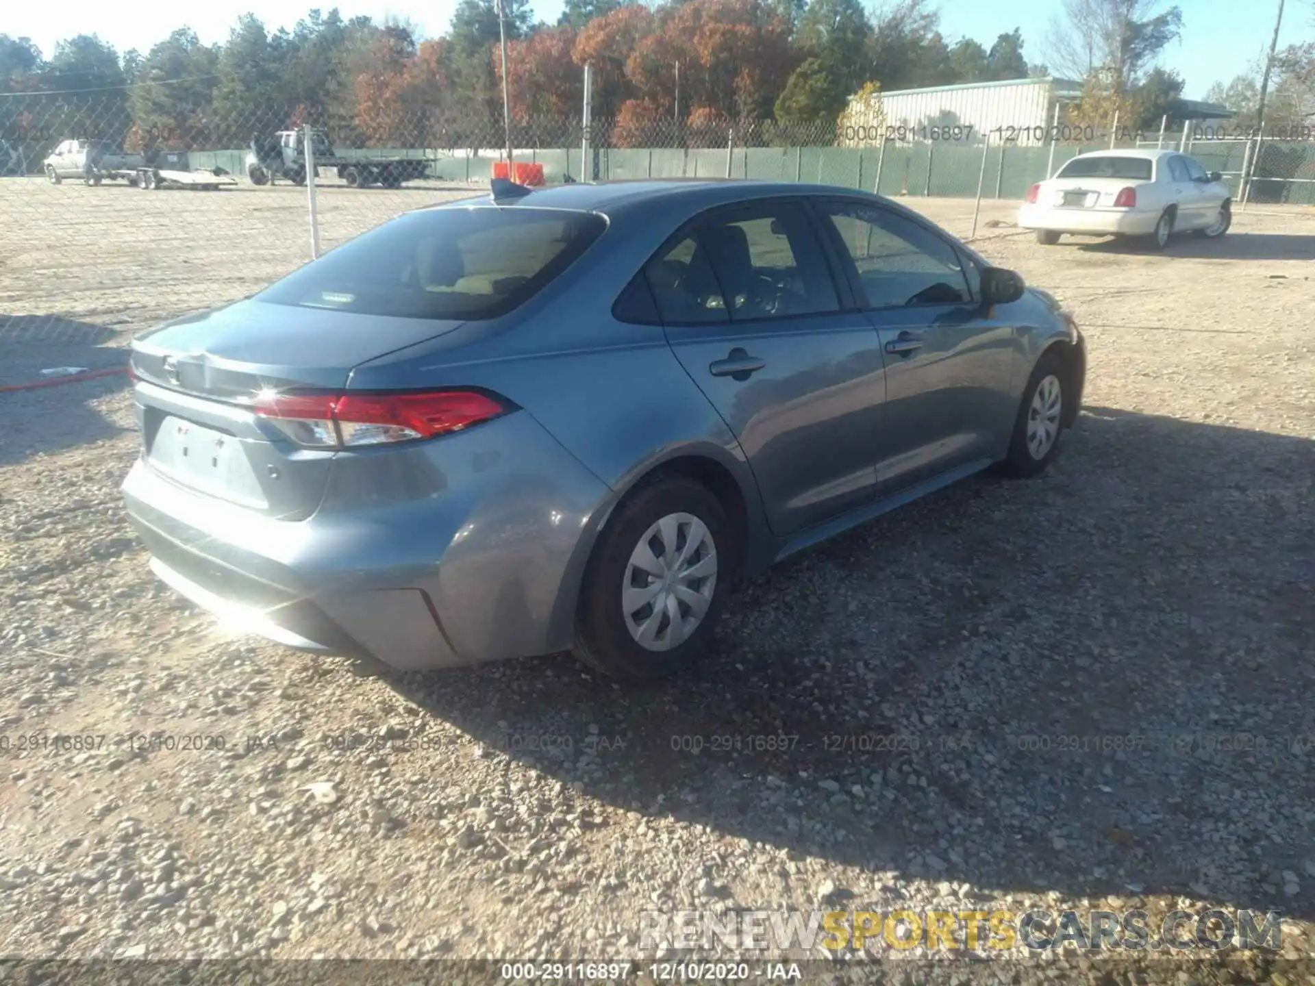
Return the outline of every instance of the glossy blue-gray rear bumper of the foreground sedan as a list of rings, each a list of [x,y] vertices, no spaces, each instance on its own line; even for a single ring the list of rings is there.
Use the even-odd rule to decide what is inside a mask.
[[[569,646],[611,493],[529,414],[338,459],[304,521],[185,489],[141,459],[124,500],[166,584],[289,647],[423,669]],[[427,469],[441,492],[389,502],[377,484],[396,485],[398,465]]]

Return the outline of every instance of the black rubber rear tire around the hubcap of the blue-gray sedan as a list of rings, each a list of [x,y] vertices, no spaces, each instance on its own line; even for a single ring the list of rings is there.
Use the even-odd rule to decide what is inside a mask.
[[[656,651],[631,635],[621,594],[631,553],[644,532],[669,514],[689,514],[702,522],[711,539],[717,571],[702,622],[682,643]],[[688,535],[685,543],[689,543]],[[706,486],[682,477],[642,486],[617,507],[593,547],[576,609],[575,656],[609,677],[635,682],[655,681],[689,667],[713,640],[738,564],[731,523],[721,501]],[[669,628],[669,618],[665,619]]]

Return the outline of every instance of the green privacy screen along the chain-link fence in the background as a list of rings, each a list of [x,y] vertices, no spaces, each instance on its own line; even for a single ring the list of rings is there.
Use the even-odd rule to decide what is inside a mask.
[[[1197,142],[1190,154],[1207,171],[1223,172],[1233,195],[1245,163],[1241,141]],[[1253,145],[1252,145],[1253,146]],[[805,181],[846,188],[876,189],[885,196],[972,197],[981,180],[985,199],[1022,199],[1028,187],[1041,181],[1048,168],[1107,145],[1053,147],[989,147],[959,145],[896,143],[881,147],[635,147],[597,149],[590,153],[598,180],[646,177],[731,177],[767,181]],[[498,151],[447,151],[416,149],[339,150],[341,158],[418,158],[430,162],[430,177],[443,181],[485,181]],[[1051,166],[1053,155],[1053,164]],[[222,167],[245,171],[246,151],[193,151],[192,167]],[[521,160],[543,164],[544,177],[559,183],[571,176],[583,180],[584,158],[577,147],[521,150]],[[1315,143],[1265,142],[1256,166],[1252,201],[1315,204]]]

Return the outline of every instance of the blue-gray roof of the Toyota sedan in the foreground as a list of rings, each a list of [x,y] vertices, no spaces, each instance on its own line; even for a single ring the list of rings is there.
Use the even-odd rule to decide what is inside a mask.
[[[611,213],[625,206],[635,206],[654,200],[679,201],[690,209],[705,209],[722,202],[753,201],[773,196],[864,196],[856,188],[840,185],[811,185],[793,181],[760,181],[755,179],[636,179],[621,181],[577,181],[551,188],[534,189],[518,199],[505,199],[498,205],[519,205],[539,209],[580,209],[583,212]],[[439,202],[447,205],[476,205],[489,202],[488,195]]]

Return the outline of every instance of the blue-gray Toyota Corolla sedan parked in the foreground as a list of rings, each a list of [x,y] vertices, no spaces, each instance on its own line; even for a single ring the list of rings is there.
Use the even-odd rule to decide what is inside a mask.
[[[133,346],[151,567],[293,647],[706,651],[736,577],[1077,417],[1045,292],[846,188],[575,184],[406,213]]]

